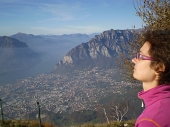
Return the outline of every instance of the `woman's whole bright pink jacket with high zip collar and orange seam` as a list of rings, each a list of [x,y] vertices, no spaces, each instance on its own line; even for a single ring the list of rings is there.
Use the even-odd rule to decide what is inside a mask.
[[[145,110],[138,117],[135,127],[170,127],[170,85],[159,85],[148,91],[141,91]]]

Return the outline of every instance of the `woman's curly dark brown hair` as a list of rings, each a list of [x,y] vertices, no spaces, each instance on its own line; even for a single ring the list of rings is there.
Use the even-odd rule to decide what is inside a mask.
[[[158,83],[170,85],[170,30],[147,30],[142,41],[150,43],[149,54],[155,59],[151,68],[159,75]]]

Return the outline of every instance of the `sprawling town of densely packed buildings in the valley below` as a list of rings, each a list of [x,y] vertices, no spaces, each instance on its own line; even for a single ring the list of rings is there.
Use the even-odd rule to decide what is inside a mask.
[[[121,81],[117,74],[116,69],[94,68],[65,75],[40,74],[15,84],[0,85],[4,115],[21,119],[37,110],[37,102],[41,110],[54,113],[93,110],[98,100],[108,94],[121,93],[122,88],[137,85]]]

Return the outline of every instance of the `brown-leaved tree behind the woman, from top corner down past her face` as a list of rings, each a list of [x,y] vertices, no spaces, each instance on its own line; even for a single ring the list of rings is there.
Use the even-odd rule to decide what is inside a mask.
[[[135,57],[135,53],[144,43],[142,33],[146,30],[170,29],[170,0],[135,0],[133,4],[137,16],[143,21],[143,25],[140,30],[133,31],[132,40],[125,45],[125,49],[128,49],[128,55],[122,53],[118,59],[125,79],[130,81],[134,81],[131,59]]]

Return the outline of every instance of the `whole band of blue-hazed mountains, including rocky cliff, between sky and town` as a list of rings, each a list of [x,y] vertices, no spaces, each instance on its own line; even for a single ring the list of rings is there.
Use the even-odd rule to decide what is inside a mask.
[[[0,38],[1,72],[39,63],[36,68],[41,71],[36,74],[48,71],[63,73],[93,67],[116,68],[120,52],[127,54],[128,49],[124,45],[132,40],[133,30],[111,29],[90,35],[33,35],[19,32]]]

